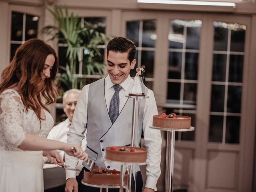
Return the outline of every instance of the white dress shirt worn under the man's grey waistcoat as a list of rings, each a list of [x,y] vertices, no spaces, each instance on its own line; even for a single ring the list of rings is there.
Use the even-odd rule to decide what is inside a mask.
[[[125,97],[129,94],[130,90],[128,87],[133,83],[133,79],[128,76],[124,82],[120,85],[122,89],[119,92],[120,97],[120,109],[124,107],[124,104],[127,100]],[[106,105],[109,110],[110,100],[115,92],[114,88],[112,88],[114,84],[111,82],[110,77],[107,76],[105,79],[105,100]],[[76,104],[76,110],[74,112],[74,116],[72,119],[72,124],[70,126],[70,132],[68,133],[68,143],[81,144],[82,139],[84,139],[84,131],[86,130],[87,123],[87,103],[88,103],[88,91],[90,84],[84,86],[82,89],[78,102]],[[146,99],[145,109],[144,109],[144,117],[143,117],[143,132],[144,132],[144,144],[147,148],[147,180],[146,187],[155,189],[156,182],[160,176],[160,160],[161,160],[161,144],[162,138],[160,134],[160,130],[155,130],[149,128],[152,125],[153,115],[157,115],[157,107],[156,100],[154,98],[154,93],[152,90],[148,90],[147,95],[149,98]],[[120,110],[119,110],[120,112]],[[66,156],[65,165],[67,167],[75,167],[78,158]],[[75,178],[75,171],[66,170],[66,179]]]

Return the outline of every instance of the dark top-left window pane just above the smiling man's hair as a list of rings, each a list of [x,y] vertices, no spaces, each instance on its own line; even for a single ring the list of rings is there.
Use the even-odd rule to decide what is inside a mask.
[[[139,46],[140,21],[130,21],[126,23],[126,37]]]

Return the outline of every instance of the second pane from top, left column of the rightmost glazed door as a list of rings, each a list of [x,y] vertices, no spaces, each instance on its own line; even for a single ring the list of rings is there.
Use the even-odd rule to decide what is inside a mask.
[[[224,54],[213,55],[212,81],[225,81],[226,60],[227,56]]]

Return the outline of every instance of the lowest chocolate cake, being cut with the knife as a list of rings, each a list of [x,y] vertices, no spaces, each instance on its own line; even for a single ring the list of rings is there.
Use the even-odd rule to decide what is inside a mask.
[[[125,177],[127,178],[127,173]],[[124,178],[124,181],[127,181],[126,178]],[[99,186],[119,186],[120,172],[115,169],[109,170],[103,167],[99,170],[92,170],[91,172],[84,171],[83,182]]]

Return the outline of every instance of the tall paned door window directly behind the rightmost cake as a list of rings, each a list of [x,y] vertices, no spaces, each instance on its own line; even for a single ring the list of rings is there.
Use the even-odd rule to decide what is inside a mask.
[[[195,126],[200,20],[170,20],[166,113],[191,116]],[[194,131],[179,132],[178,140],[194,140]]]

